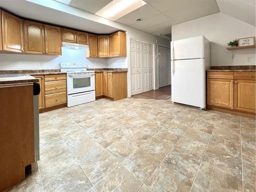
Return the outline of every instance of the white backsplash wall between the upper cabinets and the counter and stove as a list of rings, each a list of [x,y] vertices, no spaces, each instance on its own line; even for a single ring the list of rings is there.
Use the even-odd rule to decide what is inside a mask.
[[[60,62],[86,62],[88,68],[107,68],[108,60],[86,58],[83,50],[62,48],[61,56],[0,54],[0,70],[60,69]]]

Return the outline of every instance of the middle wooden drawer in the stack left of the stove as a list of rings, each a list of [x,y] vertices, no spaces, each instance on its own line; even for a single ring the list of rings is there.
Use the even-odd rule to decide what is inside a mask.
[[[67,91],[66,80],[45,82],[45,94],[60,93]]]

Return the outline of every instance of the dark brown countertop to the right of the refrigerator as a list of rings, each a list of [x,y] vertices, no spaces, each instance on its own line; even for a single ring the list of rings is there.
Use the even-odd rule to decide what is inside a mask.
[[[255,72],[255,66],[211,66],[207,72]]]

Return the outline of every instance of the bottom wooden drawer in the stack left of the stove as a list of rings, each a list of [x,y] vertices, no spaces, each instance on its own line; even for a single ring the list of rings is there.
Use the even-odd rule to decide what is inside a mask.
[[[45,99],[47,108],[49,108],[50,106],[67,103],[67,92],[46,95]]]

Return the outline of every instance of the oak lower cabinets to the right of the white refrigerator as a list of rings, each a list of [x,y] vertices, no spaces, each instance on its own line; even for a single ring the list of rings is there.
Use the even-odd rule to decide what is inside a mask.
[[[207,72],[207,108],[255,115],[255,73]],[[217,108],[216,108],[217,107]]]

